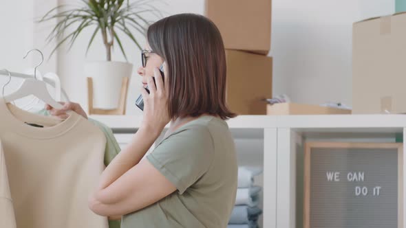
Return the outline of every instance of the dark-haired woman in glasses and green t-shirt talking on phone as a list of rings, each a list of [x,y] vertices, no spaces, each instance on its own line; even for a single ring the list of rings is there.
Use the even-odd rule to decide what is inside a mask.
[[[226,57],[219,30],[204,16],[153,23],[142,52],[142,124],[107,166],[89,197],[93,212],[127,227],[226,227],[235,203],[237,161],[225,119]],[[164,66],[164,80],[158,67]],[[156,79],[156,85],[153,78]],[[86,117],[78,104],[73,110]],[[144,157],[164,126],[169,130]]]

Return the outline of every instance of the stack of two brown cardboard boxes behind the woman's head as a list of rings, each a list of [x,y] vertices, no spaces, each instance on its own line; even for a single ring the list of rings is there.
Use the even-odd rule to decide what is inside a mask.
[[[206,16],[226,48],[227,104],[239,115],[265,115],[272,98],[271,0],[206,0]]]

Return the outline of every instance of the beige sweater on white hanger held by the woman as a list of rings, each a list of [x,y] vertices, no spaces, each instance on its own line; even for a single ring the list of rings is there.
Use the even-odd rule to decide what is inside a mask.
[[[0,201],[0,223],[10,221],[4,228],[13,227],[12,206],[17,227],[108,227],[87,207],[104,168],[106,139],[96,126],[73,112],[62,121],[0,98],[0,139],[8,173],[7,182],[0,162],[0,196],[10,196],[9,183],[12,198]]]

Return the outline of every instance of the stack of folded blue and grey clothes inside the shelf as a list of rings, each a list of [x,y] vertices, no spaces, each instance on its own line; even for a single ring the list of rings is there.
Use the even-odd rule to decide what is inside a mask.
[[[262,214],[259,206],[259,194],[262,188],[254,186],[254,177],[261,174],[260,168],[238,168],[238,189],[235,207],[228,222],[228,228],[257,228],[258,218]]]

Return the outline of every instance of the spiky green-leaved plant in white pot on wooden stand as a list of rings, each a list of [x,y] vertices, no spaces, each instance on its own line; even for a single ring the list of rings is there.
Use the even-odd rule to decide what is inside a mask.
[[[133,66],[128,62],[111,61],[111,51],[117,45],[127,60],[119,35],[127,36],[141,49],[140,42],[132,31],[145,36],[149,25],[145,19],[146,14],[160,16],[158,10],[145,0],[134,3],[129,3],[128,0],[82,0],[78,7],[60,5],[53,8],[40,20],[58,19],[47,37],[48,43],[54,39],[58,41],[50,56],[63,43],[68,43],[71,48],[83,30],[93,29],[86,54],[96,35],[102,36],[106,60],[89,61],[85,64],[85,74],[93,80],[93,104],[98,109],[116,109],[118,106],[122,78],[131,76]]]

